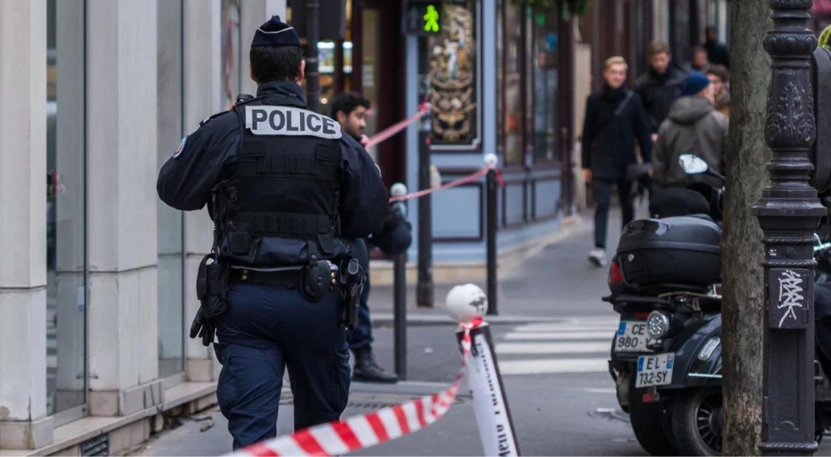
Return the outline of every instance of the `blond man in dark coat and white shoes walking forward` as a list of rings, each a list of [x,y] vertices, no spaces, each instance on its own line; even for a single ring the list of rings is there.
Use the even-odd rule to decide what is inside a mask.
[[[593,184],[597,209],[594,214],[594,245],[589,260],[606,265],[606,231],[612,187],[623,210],[623,224],[634,218],[629,196],[627,169],[637,163],[635,142],[641,147],[645,163],[652,161],[651,125],[641,97],[628,91],[627,63],[623,57],[610,57],[604,66],[605,83],[588,96],[583,122],[583,179]]]

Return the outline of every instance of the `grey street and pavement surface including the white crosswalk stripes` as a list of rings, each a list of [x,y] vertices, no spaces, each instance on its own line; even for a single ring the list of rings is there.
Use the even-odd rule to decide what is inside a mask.
[[[600,300],[606,269],[585,258],[590,224],[543,248],[500,282],[499,317],[492,332],[519,447],[526,455],[646,455],[634,440],[627,415],[617,406],[607,356],[617,315]],[[613,219],[616,227],[619,222]],[[612,231],[611,237],[616,237]],[[613,250],[614,246],[610,246]],[[484,285],[484,284],[483,284]],[[446,285],[450,286],[450,285]],[[411,307],[408,380],[396,386],[353,383],[345,416],[367,412],[445,388],[459,368],[455,327],[442,309],[448,287],[436,289],[436,307]],[[409,303],[413,303],[411,300]],[[391,288],[373,287],[373,312],[391,312]],[[430,319],[419,319],[430,317]],[[519,317],[514,320],[513,317]],[[507,322],[506,322],[507,321]],[[374,345],[381,365],[393,366],[392,328],[381,320]],[[463,387],[463,394],[466,393]],[[286,393],[288,394],[288,392]],[[278,432],[292,427],[290,394],[283,400]],[[139,455],[219,455],[230,437],[219,410],[210,420],[185,421],[150,440]],[[357,455],[481,455],[470,396],[427,430]]]

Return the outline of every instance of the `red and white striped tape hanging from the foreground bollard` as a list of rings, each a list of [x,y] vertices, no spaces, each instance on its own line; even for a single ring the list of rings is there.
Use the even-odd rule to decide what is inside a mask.
[[[453,405],[462,377],[465,376],[465,359],[470,355],[470,331],[481,324],[482,319],[479,317],[460,326],[464,331],[461,338],[462,363],[455,382],[446,391],[369,414],[315,425],[293,435],[283,435],[250,445],[234,455],[342,455],[425,428],[439,420]]]

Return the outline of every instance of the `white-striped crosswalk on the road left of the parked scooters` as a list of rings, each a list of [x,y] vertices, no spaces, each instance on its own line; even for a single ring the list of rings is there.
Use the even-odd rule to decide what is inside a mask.
[[[503,375],[608,371],[617,319],[572,318],[519,325],[495,342]]]

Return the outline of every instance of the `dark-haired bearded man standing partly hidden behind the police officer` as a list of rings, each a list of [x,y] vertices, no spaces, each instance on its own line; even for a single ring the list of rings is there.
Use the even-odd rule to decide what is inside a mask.
[[[332,118],[341,125],[341,130],[352,135],[357,141],[366,138],[366,111],[370,102],[355,92],[342,92],[332,101]],[[412,242],[412,229],[404,215],[394,207],[390,207],[384,224],[365,240],[356,240],[355,257],[361,261],[361,266],[369,272],[369,253],[366,244],[375,245],[387,255],[403,253]],[[372,354],[372,325],[369,315],[370,285],[367,277],[366,286],[361,295],[361,307],[355,329],[349,333],[349,348],[355,353],[355,370],[352,379],[355,381],[394,383],[398,381],[395,373],[385,371],[375,361]]]

